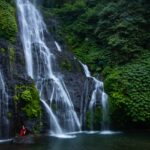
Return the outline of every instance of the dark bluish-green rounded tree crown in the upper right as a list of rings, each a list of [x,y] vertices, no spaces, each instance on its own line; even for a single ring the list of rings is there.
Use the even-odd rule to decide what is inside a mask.
[[[111,52],[113,63],[125,64],[145,50],[149,39],[145,31],[145,9],[139,2],[121,1],[109,3],[99,13],[95,34],[101,45]]]

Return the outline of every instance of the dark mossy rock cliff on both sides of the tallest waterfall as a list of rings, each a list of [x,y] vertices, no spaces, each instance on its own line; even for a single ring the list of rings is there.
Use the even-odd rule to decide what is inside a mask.
[[[49,126],[47,118],[42,115],[46,112],[40,104],[39,94],[35,88],[34,81],[27,75],[23,46],[19,36],[19,27],[17,27],[17,18],[15,16],[15,7],[14,5],[2,1],[0,3],[0,11],[4,10],[3,6],[5,5],[10,8],[10,10],[7,10],[8,12],[13,11],[14,13],[10,13],[10,16],[3,17],[8,17],[8,19],[12,17],[15,22],[13,22],[13,24],[10,22],[10,27],[8,25],[6,28],[1,28],[0,30],[0,71],[3,75],[3,81],[8,94],[8,104],[2,102],[2,94],[0,94],[1,122],[3,122],[2,116],[4,115],[4,120],[7,122],[2,123],[0,126],[0,137],[13,136],[18,132],[21,124],[25,124],[32,132],[40,131]],[[2,16],[0,16],[0,18],[1,17]],[[7,18],[2,19],[5,20]],[[2,22],[2,20],[0,22]],[[55,22],[55,19],[50,19],[47,25],[56,27]],[[15,30],[11,31],[14,25]],[[7,31],[7,28],[10,30]],[[7,35],[10,32],[12,32],[12,34]],[[72,53],[68,51],[67,46],[62,41],[59,41],[62,52],[60,53],[58,51],[58,46],[55,44],[55,35],[46,34],[45,36],[46,43],[55,55],[56,62],[58,62],[58,64],[53,64],[54,71],[57,69],[61,73],[79,117],[86,80],[81,64],[74,58]],[[35,57],[34,54],[33,57]],[[51,90],[52,89],[50,89],[50,91]],[[90,97],[88,99],[90,100]],[[6,109],[6,107],[3,106],[6,105],[8,111],[3,114],[3,110]],[[3,132],[3,130],[7,128],[9,128],[8,134]]]

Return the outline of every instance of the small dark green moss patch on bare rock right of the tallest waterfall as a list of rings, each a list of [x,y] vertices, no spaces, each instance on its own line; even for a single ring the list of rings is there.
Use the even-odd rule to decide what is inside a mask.
[[[73,69],[71,62],[67,59],[63,59],[61,61],[60,67],[61,67],[62,70],[67,70],[69,72],[71,72],[72,69]]]

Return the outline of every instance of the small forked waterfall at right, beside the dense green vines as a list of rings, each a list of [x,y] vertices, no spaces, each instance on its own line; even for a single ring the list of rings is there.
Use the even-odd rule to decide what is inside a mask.
[[[81,63],[81,62],[80,62]],[[104,92],[104,85],[102,81],[97,80],[95,77],[91,76],[91,73],[87,67],[87,65],[81,63],[84,73],[87,78],[92,78],[94,81],[94,89],[92,91],[91,100],[89,103],[89,110],[91,113],[91,121],[90,121],[90,129],[93,130],[93,113],[94,107],[96,103],[99,102],[102,105],[102,122],[101,122],[101,130],[108,130],[108,96]],[[100,95],[100,96],[98,96]]]

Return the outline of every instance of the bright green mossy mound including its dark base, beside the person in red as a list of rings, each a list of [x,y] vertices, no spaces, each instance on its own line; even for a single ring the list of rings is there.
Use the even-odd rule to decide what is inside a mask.
[[[9,117],[14,117],[15,120],[15,132],[18,133],[18,129],[22,124],[32,122],[29,130],[32,133],[39,133],[42,128],[41,114],[42,108],[40,104],[39,93],[34,84],[16,85],[14,95],[15,113],[12,115],[9,113]]]

